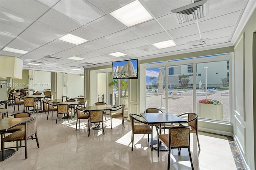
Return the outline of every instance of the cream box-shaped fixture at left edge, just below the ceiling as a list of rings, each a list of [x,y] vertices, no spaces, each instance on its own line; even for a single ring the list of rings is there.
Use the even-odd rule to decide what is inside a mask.
[[[22,79],[23,61],[17,57],[0,56],[0,77],[6,79],[6,87],[12,86],[12,79]]]

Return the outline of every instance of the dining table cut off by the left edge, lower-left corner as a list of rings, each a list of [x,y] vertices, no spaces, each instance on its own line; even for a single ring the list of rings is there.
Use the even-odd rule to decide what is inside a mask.
[[[4,155],[2,154],[3,144],[2,144],[2,138],[5,131],[9,130],[10,128],[13,128],[17,125],[21,125],[23,122],[28,121],[30,119],[33,119],[33,117],[22,117],[22,118],[7,118],[7,119],[0,119],[0,133],[1,133],[1,151],[0,151],[0,160],[9,158],[12,156],[16,150],[15,149],[6,149],[4,150]]]

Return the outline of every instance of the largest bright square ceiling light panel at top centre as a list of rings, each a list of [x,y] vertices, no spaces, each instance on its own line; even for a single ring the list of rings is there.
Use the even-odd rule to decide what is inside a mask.
[[[138,0],[111,12],[110,15],[127,27],[153,18]]]

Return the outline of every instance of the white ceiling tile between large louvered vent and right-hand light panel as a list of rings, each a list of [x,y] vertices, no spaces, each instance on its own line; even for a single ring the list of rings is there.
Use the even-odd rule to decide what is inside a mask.
[[[183,27],[175,28],[167,31],[174,39],[199,34],[196,24],[190,24]]]

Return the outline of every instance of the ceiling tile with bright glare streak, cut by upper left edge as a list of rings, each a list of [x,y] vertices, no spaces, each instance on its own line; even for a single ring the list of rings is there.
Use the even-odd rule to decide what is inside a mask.
[[[20,14],[16,14],[10,10],[6,10],[5,8],[0,8],[0,16],[1,24],[3,23],[22,29],[27,28],[32,22],[34,22],[34,20],[30,18],[21,16]]]

